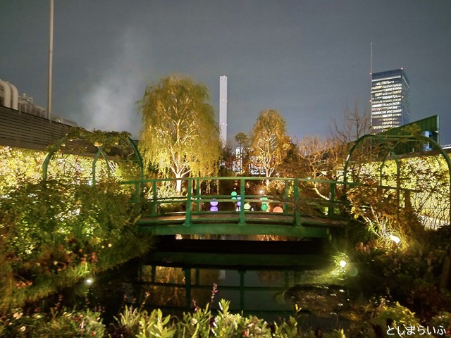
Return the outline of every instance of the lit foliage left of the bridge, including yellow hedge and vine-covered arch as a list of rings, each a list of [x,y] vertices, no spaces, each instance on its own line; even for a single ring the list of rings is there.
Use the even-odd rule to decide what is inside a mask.
[[[0,148],[0,314],[149,249],[150,239],[135,227],[140,206],[118,183],[139,175],[128,158],[128,137],[74,128],[49,147],[47,180],[42,169],[49,152]],[[109,161],[103,156],[94,163],[99,149]]]

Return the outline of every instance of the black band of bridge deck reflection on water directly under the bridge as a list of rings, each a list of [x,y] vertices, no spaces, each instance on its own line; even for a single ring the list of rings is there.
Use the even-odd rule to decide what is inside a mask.
[[[226,239],[226,240],[225,240]],[[258,239],[258,238],[254,238]],[[171,266],[211,267],[221,265],[247,270],[268,266],[293,266],[311,269],[326,265],[324,243],[321,239],[302,241],[265,241],[230,239],[183,239],[161,237],[149,260]]]

